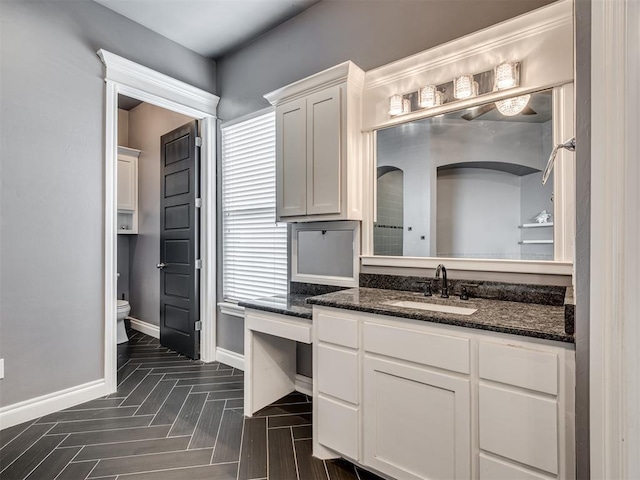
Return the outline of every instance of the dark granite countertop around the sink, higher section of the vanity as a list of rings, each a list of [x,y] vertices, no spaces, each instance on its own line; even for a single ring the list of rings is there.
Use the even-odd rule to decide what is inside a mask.
[[[477,308],[478,311],[471,315],[458,315],[384,304],[401,300]],[[442,299],[437,295],[425,297],[414,292],[362,287],[311,297],[307,303],[574,343],[573,335],[565,333],[565,313],[561,306],[483,298],[460,300],[454,296]]]

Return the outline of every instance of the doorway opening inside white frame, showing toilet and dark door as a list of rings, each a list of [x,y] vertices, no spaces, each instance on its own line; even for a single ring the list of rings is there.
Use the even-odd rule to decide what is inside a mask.
[[[193,117],[118,95],[117,342],[127,340],[126,322],[194,359],[200,320],[197,132]]]

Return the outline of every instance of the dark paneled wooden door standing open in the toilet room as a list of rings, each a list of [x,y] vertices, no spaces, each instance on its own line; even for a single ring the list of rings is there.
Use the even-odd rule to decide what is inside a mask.
[[[160,343],[199,357],[199,148],[197,124],[161,137]],[[196,323],[198,322],[198,323]]]

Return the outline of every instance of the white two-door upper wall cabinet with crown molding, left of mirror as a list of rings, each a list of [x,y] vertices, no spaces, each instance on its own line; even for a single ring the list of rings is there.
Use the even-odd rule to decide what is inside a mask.
[[[345,62],[265,95],[276,106],[278,220],[362,219],[363,82]]]

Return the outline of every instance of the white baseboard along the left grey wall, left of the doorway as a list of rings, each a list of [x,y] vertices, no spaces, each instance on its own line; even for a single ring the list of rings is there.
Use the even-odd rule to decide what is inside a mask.
[[[107,391],[104,379],[94,380],[40,397],[0,408],[0,429],[12,427],[44,415],[95,400],[112,392]]]

